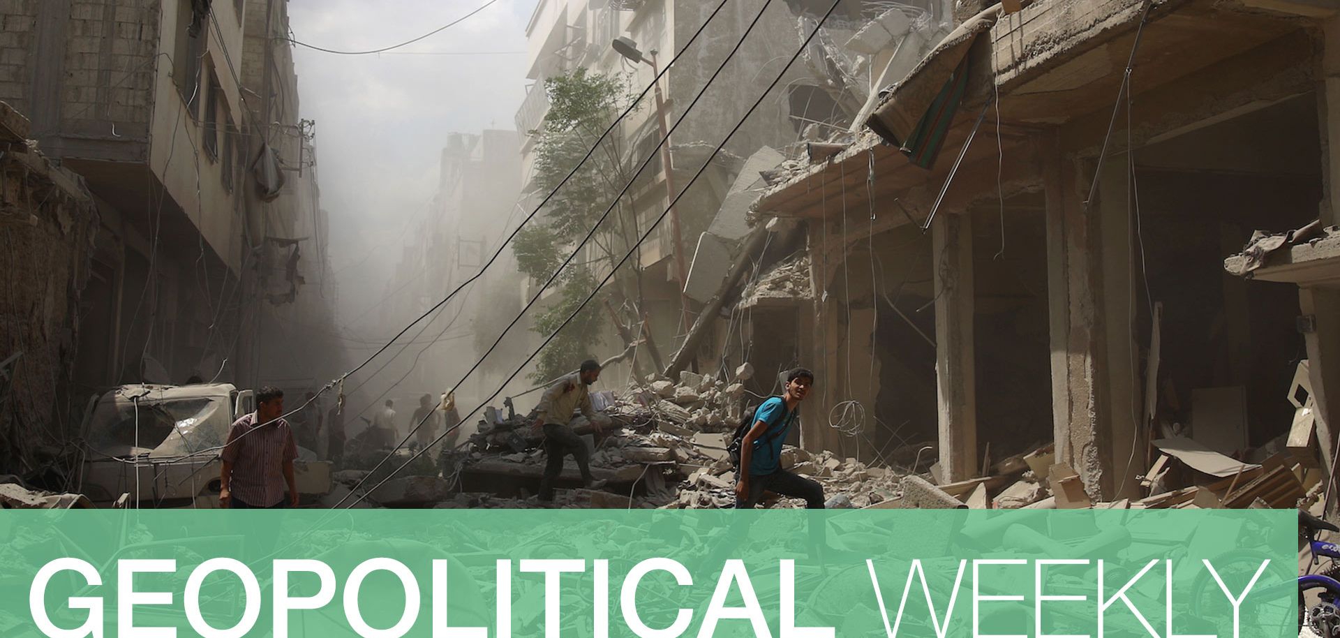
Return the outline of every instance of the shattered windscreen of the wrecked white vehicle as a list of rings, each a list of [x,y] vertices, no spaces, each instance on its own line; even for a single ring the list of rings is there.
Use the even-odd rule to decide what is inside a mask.
[[[88,445],[109,456],[133,456],[153,452],[153,456],[178,456],[222,445],[228,436],[226,414],[221,399],[184,398],[174,401],[139,401],[138,424],[135,405],[118,399],[113,406],[100,402],[94,411],[88,432]],[[135,430],[139,445],[135,446]]]

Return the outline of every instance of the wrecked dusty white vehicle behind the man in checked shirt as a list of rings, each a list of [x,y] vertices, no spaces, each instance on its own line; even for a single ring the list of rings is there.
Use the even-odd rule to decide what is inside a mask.
[[[127,385],[94,397],[79,492],[99,507],[217,508],[228,429],[255,410],[255,393],[230,383]],[[293,469],[303,503],[330,493],[328,461],[299,448]]]

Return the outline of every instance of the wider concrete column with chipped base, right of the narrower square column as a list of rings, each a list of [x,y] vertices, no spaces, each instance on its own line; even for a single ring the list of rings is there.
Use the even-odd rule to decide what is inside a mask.
[[[1101,347],[1101,228],[1084,210],[1087,181],[1055,141],[1043,145],[1047,197],[1047,285],[1052,350],[1056,460],[1100,496],[1107,450],[1107,354]]]

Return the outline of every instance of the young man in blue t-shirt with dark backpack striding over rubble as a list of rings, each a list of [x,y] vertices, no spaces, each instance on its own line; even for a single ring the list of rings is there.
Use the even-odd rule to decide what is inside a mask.
[[[753,428],[740,445],[740,483],[736,484],[736,507],[752,509],[764,492],[805,500],[809,509],[824,508],[824,488],[781,468],[781,445],[800,413],[800,402],[809,394],[815,374],[797,367],[787,374],[787,393],[764,401],[754,411]]]

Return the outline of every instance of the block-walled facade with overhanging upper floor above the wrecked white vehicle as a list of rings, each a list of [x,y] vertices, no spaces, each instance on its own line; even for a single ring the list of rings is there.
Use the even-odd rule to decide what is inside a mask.
[[[83,178],[98,210],[87,284],[70,291],[83,330],[63,426],[118,383],[287,375],[267,370],[276,359],[256,336],[261,315],[316,296],[289,285],[295,240],[307,237],[302,279],[326,269],[315,176],[310,164],[300,173],[311,147],[297,133],[296,75],[272,38],[285,32],[287,3],[200,5],[4,4],[0,99],[32,114],[39,149]],[[256,74],[244,47],[263,60],[248,67]],[[328,316],[318,304],[302,312]]]

